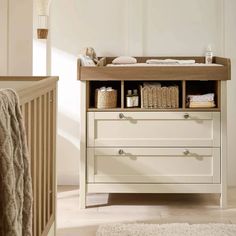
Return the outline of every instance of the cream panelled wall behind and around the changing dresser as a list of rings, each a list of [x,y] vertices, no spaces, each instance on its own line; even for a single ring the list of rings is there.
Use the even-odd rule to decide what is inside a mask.
[[[52,73],[60,76],[59,184],[77,184],[79,179],[79,83],[76,81],[76,56],[83,48],[93,46],[100,56],[197,56],[203,55],[205,47],[211,43],[214,53],[223,55],[225,42],[228,52],[231,52],[235,42],[229,36],[233,30],[235,37],[235,1],[226,0],[226,5],[230,13],[227,22],[230,23],[225,38],[223,0],[53,1]],[[233,56],[232,53],[227,55]],[[232,109],[236,96],[233,93],[235,82],[230,83],[229,177],[230,184],[236,185],[236,145],[233,144],[233,140],[236,140],[233,122],[236,109]]]

